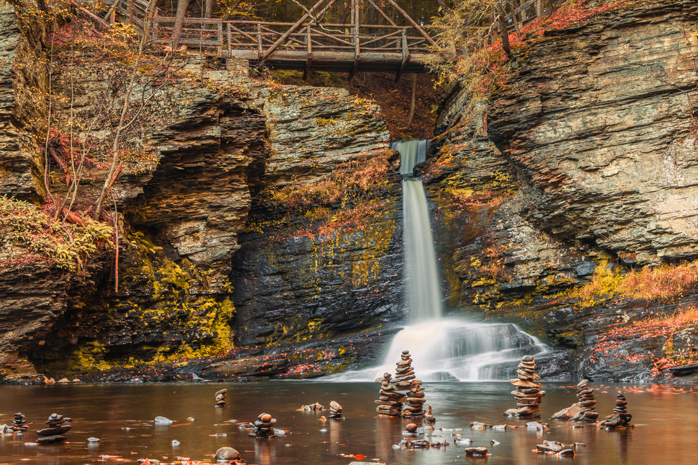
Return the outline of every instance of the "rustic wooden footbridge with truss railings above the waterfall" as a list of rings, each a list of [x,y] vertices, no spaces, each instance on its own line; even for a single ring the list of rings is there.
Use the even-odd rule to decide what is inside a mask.
[[[103,4],[114,7],[112,22],[118,15],[119,20],[138,26],[157,43],[212,51],[226,59],[245,59],[251,66],[302,70],[304,79],[310,70],[325,70],[347,72],[350,78],[359,71],[389,72],[395,73],[397,80],[402,73],[427,73],[428,63],[445,58],[433,51],[435,47],[431,46],[436,42],[429,33],[394,0],[351,0],[348,22],[322,22],[335,1],[318,0],[294,23],[184,17],[177,37],[177,19],[161,15],[158,9],[151,30],[144,31],[148,0],[103,0]],[[519,21],[523,24],[542,14],[543,0],[513,1],[518,8],[506,18],[510,31],[519,30]],[[392,6],[403,17],[401,22],[408,25],[396,24],[395,17],[387,15],[378,3]],[[363,24],[362,8],[372,8],[373,16],[382,17],[386,24]],[[494,18],[492,24],[489,33],[495,40]]]

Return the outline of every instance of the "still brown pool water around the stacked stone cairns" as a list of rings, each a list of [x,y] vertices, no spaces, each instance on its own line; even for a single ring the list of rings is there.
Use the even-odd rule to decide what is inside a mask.
[[[136,464],[137,459],[158,459],[164,463],[177,457],[213,461],[211,455],[223,446],[236,448],[247,464],[348,464],[343,455],[362,454],[364,461],[395,465],[450,463],[552,464],[574,462],[604,464],[693,464],[698,437],[698,388],[685,386],[593,384],[600,418],[611,413],[615,390],[621,388],[628,399],[634,429],[597,430],[590,425],[572,428],[570,422],[550,422],[540,436],[527,430],[523,420],[503,418],[515,405],[508,382],[424,383],[426,399],[437,418],[436,430],[426,436],[431,441],[463,434],[472,446],[487,446],[491,457],[464,457],[463,447],[429,450],[393,449],[403,439],[401,432],[410,422],[377,418],[374,399],[377,383],[268,382],[268,383],[172,383],[149,385],[72,385],[0,386],[0,425],[10,424],[21,412],[32,425],[24,434],[0,436],[0,464],[82,465],[89,463]],[[228,407],[214,408],[214,392],[228,388]],[[544,383],[547,395],[542,403],[542,420],[570,406],[576,399],[574,388],[560,383]],[[297,411],[302,404],[328,406],[336,400],[343,406],[345,420],[320,417],[328,412]],[[36,440],[36,429],[51,413],[73,418],[73,429],[66,433],[68,443],[27,445]],[[228,420],[251,421],[262,412],[272,413],[276,427],[288,433],[277,439],[251,438],[247,431]],[[171,427],[154,425],[156,416],[174,420]],[[194,417],[187,422],[187,417]],[[518,429],[470,430],[472,421],[488,425],[507,423]],[[439,428],[463,428],[446,432]],[[327,432],[321,432],[327,429]],[[212,436],[225,433],[226,436]],[[98,445],[85,439],[96,436]],[[422,436],[423,437],[423,436]],[[172,446],[176,439],[180,445]],[[422,439],[421,437],[419,439]],[[580,442],[586,448],[572,458],[558,458],[532,452],[542,439],[563,443]],[[490,445],[491,440],[500,445]],[[114,456],[100,458],[102,455]]]

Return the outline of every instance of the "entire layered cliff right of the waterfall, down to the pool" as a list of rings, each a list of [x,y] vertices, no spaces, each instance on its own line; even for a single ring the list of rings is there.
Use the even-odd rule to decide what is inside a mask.
[[[667,340],[695,325],[613,331],[696,300],[690,289],[670,300],[618,289],[632,267],[697,256],[697,30],[693,2],[633,3],[546,33],[489,102],[447,89],[442,134],[420,171],[439,206],[454,311],[508,319],[570,349],[574,376],[690,373],[661,360]],[[606,285],[579,294],[590,282]]]

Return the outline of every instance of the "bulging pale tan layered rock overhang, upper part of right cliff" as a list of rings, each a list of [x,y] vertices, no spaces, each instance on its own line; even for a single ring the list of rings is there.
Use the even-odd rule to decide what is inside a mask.
[[[530,50],[488,114],[527,220],[639,261],[695,256],[697,15],[641,3]]]

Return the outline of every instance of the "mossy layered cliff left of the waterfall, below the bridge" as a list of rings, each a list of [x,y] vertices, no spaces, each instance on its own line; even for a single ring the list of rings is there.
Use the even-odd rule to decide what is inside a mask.
[[[9,21],[13,11],[5,13]],[[17,43],[37,45],[31,56],[43,53],[43,36],[27,40],[21,32],[15,31]],[[15,49],[20,47],[8,47],[8,53]],[[73,147],[82,150],[82,143],[89,142],[89,169],[77,211],[89,208],[101,190],[128,80],[124,63],[95,58],[86,50],[76,59],[57,60],[53,70],[54,106],[62,108],[50,146],[65,155],[61,150],[70,142],[71,121]],[[15,61],[29,58],[17,54]],[[184,64],[191,70],[192,63]],[[234,79],[225,71],[207,72],[203,83],[181,73],[162,88],[149,73],[144,67],[136,80],[139,98],[150,98],[122,135],[121,174],[110,199],[121,231],[118,279],[113,225],[105,224],[99,233],[105,234],[98,239],[102,246],[80,248],[79,259],[70,255],[69,243],[54,241],[54,250],[42,250],[29,261],[31,234],[63,234],[62,229],[48,220],[0,227],[6,244],[0,253],[5,266],[0,376],[28,379],[38,368],[50,376],[84,379],[127,379],[128,372],[148,370],[158,376],[181,371],[304,377],[374,356],[377,351],[367,347],[383,342],[382,323],[401,315],[399,176],[380,109],[346,91],[269,86]],[[24,77],[8,80],[15,86],[11,95],[27,91],[27,82]],[[16,121],[36,117],[36,109],[27,105],[13,114]],[[130,114],[137,109],[134,103]],[[36,160],[15,166],[19,177],[10,179],[10,171],[3,171],[0,178],[8,184],[1,194],[14,199],[44,194],[35,185],[37,178],[38,185],[43,183],[43,158],[36,153]],[[52,168],[48,178],[52,195],[64,197],[64,171]],[[306,190],[315,192],[311,204],[296,201]],[[20,206],[45,217],[36,206]],[[293,226],[279,227],[284,222]],[[242,274],[237,264],[251,253],[238,250],[241,235],[244,245],[254,247],[253,237],[264,242],[258,252],[269,260],[258,259],[253,266],[260,268]],[[77,265],[62,267],[64,249]],[[301,257],[301,250],[308,254]],[[254,277],[272,266],[283,268],[290,257],[297,258],[286,270],[298,294],[293,313],[288,313],[294,302],[288,294],[269,298],[266,306],[249,305],[269,292],[266,282]],[[11,275],[7,264],[13,264]],[[255,286],[245,284],[244,273]],[[329,292],[339,281],[352,298]],[[275,312],[291,316],[269,317]],[[357,333],[370,344],[359,344],[353,337]],[[296,351],[299,344],[309,345]],[[269,361],[260,351],[269,346],[288,351],[278,369],[262,368]],[[214,359],[247,368],[235,374],[216,371],[208,367]]]

